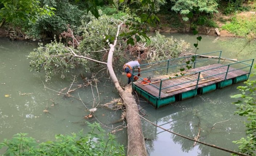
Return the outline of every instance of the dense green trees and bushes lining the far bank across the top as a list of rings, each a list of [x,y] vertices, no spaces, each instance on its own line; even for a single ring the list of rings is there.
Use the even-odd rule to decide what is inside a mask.
[[[11,27],[11,31],[17,31],[16,34],[23,38],[52,39],[54,35],[58,36],[65,31],[68,25],[71,29],[76,30],[82,24],[81,17],[86,16],[88,12],[97,19],[100,14],[120,18],[128,13],[137,21],[137,23],[133,21],[132,25],[129,25],[131,29],[124,35],[130,38],[129,43],[131,44],[134,43],[131,36],[143,32],[144,35],[139,35],[145,37],[145,32],[149,31],[148,26],[156,27],[156,30],[169,27],[177,31],[191,31],[197,29],[198,25],[218,28],[219,21],[215,18],[215,13],[222,12],[232,15],[239,11],[256,10],[255,0],[33,0],[24,1],[24,3],[22,1],[24,0],[15,1],[13,4],[11,0],[1,1],[0,26],[3,24],[1,21],[5,20],[5,26],[8,29]],[[29,5],[30,3],[32,5]],[[200,17],[195,16],[198,14],[195,10],[197,3]],[[161,22],[156,16],[158,13],[160,13]],[[54,16],[52,16],[53,14]],[[191,15],[194,17],[190,18]],[[220,19],[223,18],[220,17]],[[225,20],[227,21],[227,19]],[[223,23],[225,24],[225,22]],[[244,36],[248,32],[251,33],[254,28],[253,24],[254,22],[248,23],[248,20],[237,18],[223,29]]]

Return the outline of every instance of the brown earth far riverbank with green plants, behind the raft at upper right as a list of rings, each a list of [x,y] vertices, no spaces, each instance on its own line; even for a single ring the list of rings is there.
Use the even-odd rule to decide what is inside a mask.
[[[190,22],[185,22],[182,20],[181,16],[173,16],[170,14],[170,16],[166,14],[158,14],[157,15],[160,18],[160,24],[152,27],[150,31],[160,31],[160,33],[193,33],[193,27],[195,27]],[[197,26],[197,29],[199,31],[199,34],[204,35],[213,35],[213,36],[222,36],[222,37],[245,37],[246,35],[255,36],[253,33],[253,29],[256,29],[256,25],[254,28],[244,28],[243,25],[249,21],[254,22],[254,18],[256,18],[256,12],[255,11],[248,11],[248,12],[240,12],[235,13],[232,15],[225,15],[223,13],[215,13],[214,18],[212,18],[212,24],[215,25],[215,27],[210,27],[206,25]],[[240,23],[237,21],[241,21]],[[227,25],[229,27],[232,27],[232,24],[234,28],[227,28]],[[231,26],[230,26],[231,25]],[[248,24],[246,24],[248,25]],[[236,30],[236,29],[245,29],[245,30]],[[216,29],[218,29],[219,34],[217,35]],[[227,29],[227,30],[226,30]],[[251,29],[251,30],[248,30]],[[228,31],[230,30],[230,31]],[[232,33],[233,31],[234,33]],[[244,35],[241,35],[239,31],[249,31],[248,34],[244,33]],[[252,31],[252,32],[251,32]]]

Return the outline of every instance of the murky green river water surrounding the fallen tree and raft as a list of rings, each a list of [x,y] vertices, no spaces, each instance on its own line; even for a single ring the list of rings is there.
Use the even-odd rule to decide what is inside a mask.
[[[185,39],[191,45],[196,43],[195,36],[185,34],[172,34],[174,38]],[[166,34],[166,36],[170,36]],[[245,60],[256,58],[256,45],[251,44],[243,49],[244,39],[241,38],[216,38],[213,36],[202,36],[199,42],[198,54],[222,50],[222,56]],[[39,142],[53,140],[54,134],[70,134],[84,130],[88,132],[84,115],[85,111],[82,102],[58,95],[53,90],[60,91],[73,81],[73,77],[59,79],[53,77],[51,81],[45,82],[44,75],[29,71],[29,60],[26,55],[37,47],[36,42],[9,41],[0,38],[0,142],[4,138],[10,139],[18,132],[29,133],[29,136],[36,138]],[[71,73],[75,71],[71,71]],[[255,71],[253,71],[255,72]],[[118,78],[126,83],[126,77],[116,71]],[[76,79],[74,85],[82,84],[83,81]],[[237,149],[233,140],[245,136],[243,121],[239,115],[234,115],[236,106],[232,105],[235,99],[230,96],[239,93],[236,87],[243,85],[238,83],[229,87],[215,90],[211,93],[198,95],[172,105],[162,107],[158,110],[140,99],[140,106],[145,116],[150,121],[161,125],[164,128],[182,135],[194,138],[198,134],[198,125],[202,128],[200,140],[209,144],[215,144],[231,150]],[[47,87],[47,88],[44,88]],[[49,89],[48,89],[49,88]],[[53,89],[53,90],[50,90]],[[97,95],[96,87],[80,88],[73,95],[81,97],[88,108],[93,105],[93,95]],[[98,84],[100,104],[110,102],[112,98],[118,98],[113,84],[108,76],[102,78]],[[26,93],[26,94],[25,94]],[[8,95],[8,97],[5,97]],[[53,102],[54,101],[54,106]],[[44,113],[46,106],[49,113]],[[121,111],[107,110],[98,107],[95,112],[96,118],[103,124],[112,127],[112,122],[120,118]],[[228,121],[227,121],[228,120]],[[93,120],[96,121],[96,120]],[[93,122],[91,121],[91,122]],[[214,128],[212,126],[216,122]],[[202,144],[196,144],[190,140],[165,132],[156,128],[150,123],[142,120],[146,148],[150,156],[229,156],[230,153],[219,151]],[[118,124],[113,125],[113,127]],[[107,132],[112,131],[107,129]],[[117,141],[127,146],[126,129],[116,133]],[[2,154],[3,151],[0,151]]]

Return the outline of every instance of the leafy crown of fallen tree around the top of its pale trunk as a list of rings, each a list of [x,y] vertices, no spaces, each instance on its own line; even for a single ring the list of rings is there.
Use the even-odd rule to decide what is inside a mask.
[[[127,19],[131,17],[129,14],[125,14],[125,16],[120,17],[118,16],[119,19],[113,16],[115,15],[107,16],[105,14],[101,14],[99,20],[92,15],[90,16],[90,14],[83,16],[82,25],[79,27],[79,32],[83,34],[82,36],[84,38],[78,47],[81,52],[91,54],[91,51],[103,50],[104,48],[109,49],[108,44],[106,44],[106,40],[109,39],[110,42],[114,40],[114,36],[117,31],[116,24],[120,23],[119,20],[127,21]],[[123,27],[121,33],[125,31],[127,31],[127,29]],[[104,35],[106,39],[104,39]],[[119,40],[119,43],[122,45],[126,44],[122,39]],[[125,46],[122,46],[117,49],[116,52],[123,52],[125,48]],[[99,55],[101,55],[100,53],[94,53],[93,55],[96,56],[93,56],[93,58],[101,59],[99,58]]]

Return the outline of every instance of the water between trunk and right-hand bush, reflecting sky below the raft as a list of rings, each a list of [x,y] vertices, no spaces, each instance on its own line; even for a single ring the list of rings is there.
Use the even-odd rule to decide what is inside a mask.
[[[234,85],[176,102],[158,109],[157,113],[154,112],[153,107],[145,106],[144,109],[146,114],[150,114],[147,118],[161,127],[190,138],[195,138],[201,128],[200,141],[234,150],[237,149],[237,146],[232,141],[245,136],[241,118],[239,115],[234,115],[236,107],[231,105],[231,100],[227,98],[236,92],[236,87],[237,85]],[[231,90],[234,92],[230,92]],[[144,121],[143,127],[146,127],[145,137],[152,139],[152,141],[146,140],[151,156],[168,155],[168,153],[184,156],[230,155],[230,153],[199,143],[194,147],[193,141],[168,134],[168,132]]]

